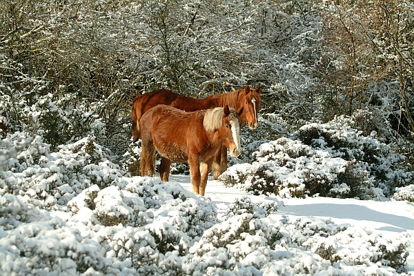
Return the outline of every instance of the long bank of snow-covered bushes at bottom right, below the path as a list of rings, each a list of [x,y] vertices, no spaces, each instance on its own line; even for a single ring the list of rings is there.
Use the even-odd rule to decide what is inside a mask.
[[[406,242],[406,237],[391,242],[330,219],[291,223],[246,213],[206,230],[190,248],[192,255],[181,259],[181,269],[192,275],[386,275],[406,272]]]

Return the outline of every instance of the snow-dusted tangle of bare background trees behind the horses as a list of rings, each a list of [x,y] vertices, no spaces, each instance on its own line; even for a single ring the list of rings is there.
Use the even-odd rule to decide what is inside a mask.
[[[270,139],[337,115],[411,153],[414,6],[375,1],[0,1],[0,126],[121,161],[130,103],[262,87]],[[270,136],[269,136],[270,135]]]

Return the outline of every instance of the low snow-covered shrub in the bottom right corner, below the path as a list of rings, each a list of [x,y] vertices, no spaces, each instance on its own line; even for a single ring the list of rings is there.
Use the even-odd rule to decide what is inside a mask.
[[[406,270],[406,237],[391,241],[378,233],[359,230],[348,224],[338,226],[331,219],[304,217],[293,225],[299,232],[293,234],[292,241],[309,248],[331,264],[366,266],[380,262],[382,266],[395,268],[400,273]],[[351,253],[353,250],[355,252]]]

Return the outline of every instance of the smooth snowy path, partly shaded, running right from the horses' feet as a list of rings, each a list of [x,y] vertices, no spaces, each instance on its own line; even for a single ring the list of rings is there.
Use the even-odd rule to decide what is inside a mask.
[[[188,175],[170,175],[170,180],[177,181],[187,190],[192,191]],[[253,201],[280,199],[264,196],[248,195],[242,190],[228,188],[221,181],[210,178],[206,187],[206,197],[210,197],[217,209],[224,209],[235,201],[237,197],[248,196]],[[404,201],[363,201],[357,199],[333,199],[315,197],[308,199],[283,199],[284,206],[278,212],[270,215],[273,219],[282,219],[287,215],[290,221],[298,217],[331,218],[335,224],[348,223],[352,226],[370,228],[380,231],[383,237],[391,238],[401,233],[411,233],[410,255],[407,262],[409,269],[414,271],[414,204]]]

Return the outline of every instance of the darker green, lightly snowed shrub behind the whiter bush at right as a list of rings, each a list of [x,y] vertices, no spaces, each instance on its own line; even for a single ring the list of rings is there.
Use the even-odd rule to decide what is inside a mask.
[[[384,195],[391,195],[396,187],[411,182],[413,172],[411,166],[404,162],[403,155],[393,152],[391,145],[380,142],[375,132],[364,136],[362,131],[351,128],[351,124],[351,118],[337,117],[328,124],[303,126],[293,138],[297,137],[312,148],[326,150],[346,161],[356,161]]]

